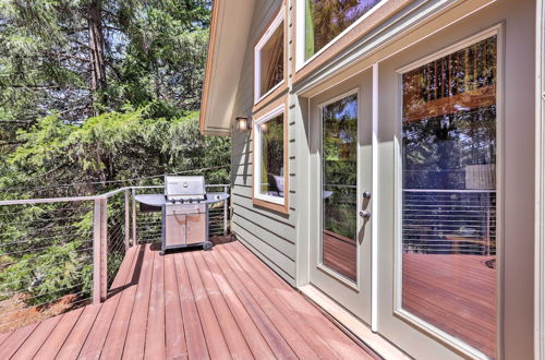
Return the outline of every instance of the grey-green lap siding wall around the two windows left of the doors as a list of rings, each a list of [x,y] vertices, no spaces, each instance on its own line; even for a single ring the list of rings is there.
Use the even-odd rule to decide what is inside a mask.
[[[288,89],[259,103],[254,107],[254,47],[262,34],[278,14],[281,0],[263,0],[256,3],[249,41],[244,55],[239,92],[234,101],[232,118],[237,116],[253,117],[263,107],[288,97]],[[289,24],[289,20],[286,20]],[[291,37],[291,32],[288,32]],[[287,47],[288,49],[289,47]],[[291,55],[288,56],[289,58]],[[291,67],[284,65],[290,84]],[[289,103],[288,103],[289,104]],[[291,107],[290,107],[291,108]],[[288,111],[289,112],[289,111]],[[237,239],[254,252],[263,262],[278,273],[290,285],[295,286],[296,259],[296,206],[295,206],[295,131],[294,122],[288,116],[288,172],[289,194],[288,214],[281,214],[253,203],[253,143],[250,131],[232,131],[232,232]]]

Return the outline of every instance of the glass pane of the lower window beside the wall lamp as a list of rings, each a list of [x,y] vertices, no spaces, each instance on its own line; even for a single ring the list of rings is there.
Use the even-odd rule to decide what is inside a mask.
[[[283,115],[262,123],[262,184],[265,195],[283,197]]]

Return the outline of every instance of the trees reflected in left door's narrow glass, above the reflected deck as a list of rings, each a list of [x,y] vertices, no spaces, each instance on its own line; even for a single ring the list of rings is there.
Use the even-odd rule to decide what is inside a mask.
[[[323,109],[324,228],[355,237],[358,95]]]

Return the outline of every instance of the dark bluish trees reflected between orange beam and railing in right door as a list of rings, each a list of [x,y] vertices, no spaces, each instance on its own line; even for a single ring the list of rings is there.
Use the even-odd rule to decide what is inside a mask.
[[[496,106],[403,124],[403,187],[467,189],[465,170],[496,164]]]

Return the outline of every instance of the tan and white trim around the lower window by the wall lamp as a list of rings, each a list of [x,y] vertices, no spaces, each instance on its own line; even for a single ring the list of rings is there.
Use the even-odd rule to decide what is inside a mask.
[[[262,153],[262,137],[261,124],[272,120],[275,117],[283,115],[283,196],[271,196],[261,193],[261,153]],[[252,143],[253,143],[253,175],[252,175],[252,201],[254,205],[266,207],[279,213],[288,214],[288,196],[289,189],[289,169],[288,169],[288,103],[282,98],[276,103],[270,104],[262,111],[254,116],[252,124]]]

